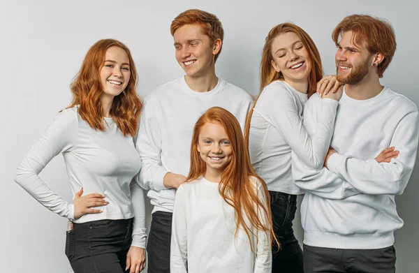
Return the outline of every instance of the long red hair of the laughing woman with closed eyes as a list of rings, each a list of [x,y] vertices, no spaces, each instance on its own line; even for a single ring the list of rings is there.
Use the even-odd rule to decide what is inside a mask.
[[[312,94],[316,92],[317,82],[321,80],[323,77],[323,67],[321,65],[321,58],[320,53],[314,41],[311,39],[309,34],[305,32],[302,28],[298,27],[292,23],[283,23],[278,24],[277,26],[273,27],[267,37],[265,38],[265,45],[263,46],[262,51],[262,59],[260,59],[260,90],[259,94],[256,97],[255,102],[253,103],[253,107],[249,111],[249,115],[247,117],[246,126],[244,128],[244,138],[247,143],[247,147],[249,147],[249,130],[250,130],[250,121],[251,116],[253,115],[253,108],[255,107],[260,94],[262,94],[263,89],[274,82],[275,80],[284,80],[284,76],[282,73],[278,73],[275,71],[274,67],[272,66],[272,60],[274,58],[274,54],[272,52],[272,42],[275,38],[279,35],[284,34],[286,32],[293,32],[295,35],[300,38],[302,44],[309,52],[309,58],[311,60],[311,71],[309,73],[309,87],[307,89],[307,95],[310,97]]]

